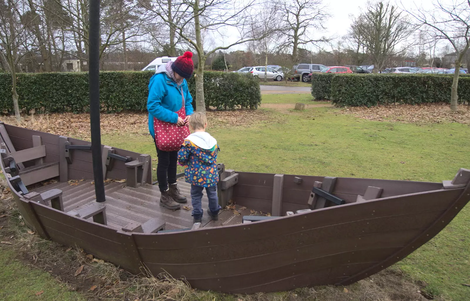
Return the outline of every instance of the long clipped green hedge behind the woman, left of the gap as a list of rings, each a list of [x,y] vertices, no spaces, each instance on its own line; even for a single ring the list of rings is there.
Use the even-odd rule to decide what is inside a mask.
[[[108,112],[146,111],[149,94],[149,71],[100,72],[100,100]],[[16,91],[24,112],[86,112],[89,109],[87,72],[51,72],[17,74]],[[188,80],[189,91],[196,95],[194,77]],[[206,108],[257,108],[261,103],[259,82],[237,73],[204,72]],[[196,102],[194,101],[193,104]],[[11,75],[0,73],[0,110],[12,111]]]

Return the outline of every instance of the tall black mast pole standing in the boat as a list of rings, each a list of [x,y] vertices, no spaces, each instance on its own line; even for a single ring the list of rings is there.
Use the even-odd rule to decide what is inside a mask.
[[[103,167],[101,162],[100,128],[100,0],[90,0],[89,14],[89,83],[90,83],[90,131],[93,156],[94,192],[97,202],[106,201],[104,196]]]

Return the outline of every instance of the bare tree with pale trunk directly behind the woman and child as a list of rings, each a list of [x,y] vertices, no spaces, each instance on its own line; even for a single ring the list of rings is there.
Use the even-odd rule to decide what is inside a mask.
[[[242,44],[263,37],[253,36],[251,31],[251,10],[256,2],[236,0],[172,0],[172,11],[181,20],[177,23],[168,18],[168,3],[155,0],[139,0],[143,6],[157,14],[164,23],[176,30],[197,53],[196,69],[196,110],[204,112],[204,65],[206,59],[219,50],[226,50],[232,46]],[[239,37],[226,46],[217,46],[211,50],[204,50],[204,34],[220,34],[227,28],[238,31]],[[210,48],[209,48],[210,49]]]

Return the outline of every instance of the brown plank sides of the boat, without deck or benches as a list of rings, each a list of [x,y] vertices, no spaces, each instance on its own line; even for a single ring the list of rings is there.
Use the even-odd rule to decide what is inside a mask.
[[[31,147],[31,135],[41,135],[47,160],[59,155],[58,136],[5,128],[17,149]],[[119,149],[116,153],[139,155]],[[91,153],[78,154],[74,162],[76,171],[70,172],[69,166],[69,178],[93,178]],[[120,164],[108,177],[125,178],[125,167]],[[238,174],[235,202],[270,212],[274,174]],[[295,177],[302,182],[295,183]],[[308,208],[313,182],[323,178],[284,175],[282,212]],[[357,195],[370,185],[384,188],[382,197],[356,202]],[[107,195],[113,189],[121,186],[112,186]],[[470,200],[470,185],[443,189],[440,183],[337,178],[333,194],[347,203],[250,224],[221,222],[196,230],[148,234],[70,216],[17,193],[15,199],[25,222],[45,239],[81,247],[132,273],[145,272],[146,267],[153,275],[165,272],[185,278],[198,289],[256,293],[347,285],[383,270],[439,233]]]

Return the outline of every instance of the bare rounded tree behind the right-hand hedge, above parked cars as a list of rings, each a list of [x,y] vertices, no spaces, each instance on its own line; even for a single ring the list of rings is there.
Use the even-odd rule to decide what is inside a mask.
[[[362,45],[372,56],[375,73],[383,67],[388,56],[400,52],[396,47],[410,34],[407,16],[384,2],[368,2],[366,11],[353,20],[351,27],[364,32]]]

